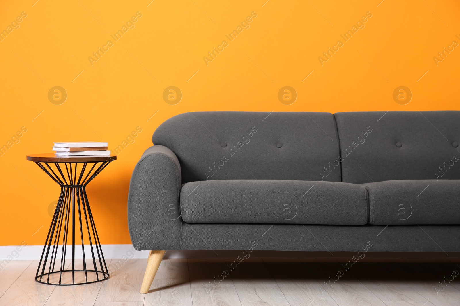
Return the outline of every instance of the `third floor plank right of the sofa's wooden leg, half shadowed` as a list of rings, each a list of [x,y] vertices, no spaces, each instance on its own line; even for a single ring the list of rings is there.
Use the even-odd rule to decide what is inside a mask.
[[[247,258],[239,262],[226,258],[225,262],[233,268],[230,276],[241,301],[286,300],[262,259]]]

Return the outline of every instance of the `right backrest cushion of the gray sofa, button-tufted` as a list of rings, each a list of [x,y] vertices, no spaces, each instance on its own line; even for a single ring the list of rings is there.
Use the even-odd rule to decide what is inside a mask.
[[[455,147],[460,143],[460,111],[360,111],[334,117],[343,182],[460,179]],[[363,138],[367,128],[372,132]]]

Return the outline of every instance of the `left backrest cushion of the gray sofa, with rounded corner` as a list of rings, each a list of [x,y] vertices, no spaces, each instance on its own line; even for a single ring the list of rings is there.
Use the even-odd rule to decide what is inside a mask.
[[[182,183],[216,179],[340,181],[334,117],[321,112],[200,111],[174,116],[152,142],[178,157]]]

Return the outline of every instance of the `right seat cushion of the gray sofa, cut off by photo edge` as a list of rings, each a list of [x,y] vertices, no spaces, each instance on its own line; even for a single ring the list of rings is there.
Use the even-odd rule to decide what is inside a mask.
[[[460,180],[395,180],[362,184],[369,223],[460,224]]]

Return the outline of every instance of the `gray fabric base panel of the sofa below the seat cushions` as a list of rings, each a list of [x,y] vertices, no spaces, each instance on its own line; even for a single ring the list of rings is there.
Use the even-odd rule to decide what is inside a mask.
[[[458,252],[459,225],[301,225],[184,223],[182,250]],[[219,251],[217,251],[219,254]]]

